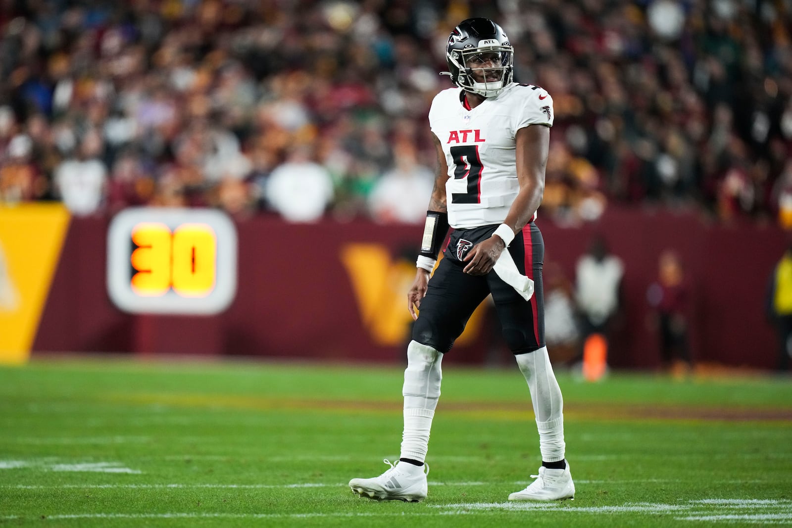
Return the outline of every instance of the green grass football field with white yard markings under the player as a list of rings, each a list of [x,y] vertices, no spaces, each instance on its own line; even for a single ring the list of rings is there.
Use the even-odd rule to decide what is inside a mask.
[[[575,500],[508,503],[540,463],[527,386],[447,361],[416,504],[346,486],[398,458],[402,367],[0,368],[0,526],[792,525],[792,378],[558,378]]]

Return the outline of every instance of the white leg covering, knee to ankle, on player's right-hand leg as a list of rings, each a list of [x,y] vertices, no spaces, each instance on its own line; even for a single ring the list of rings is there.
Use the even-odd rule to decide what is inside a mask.
[[[539,428],[539,450],[544,462],[564,459],[564,401],[550,365],[547,348],[516,355],[517,365],[528,382]]]

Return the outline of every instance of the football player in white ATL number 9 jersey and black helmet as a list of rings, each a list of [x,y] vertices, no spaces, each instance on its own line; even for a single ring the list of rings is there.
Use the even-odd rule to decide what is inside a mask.
[[[425,499],[425,457],[443,355],[491,293],[505,341],[527,380],[543,461],[536,480],[508,498],[574,496],[565,461],[562,393],[545,346],[544,242],[534,222],[543,196],[553,100],[539,86],[512,82],[513,58],[503,29],[486,18],[461,22],[448,38],[446,73],[455,88],[438,93],[429,111],[438,170],[407,295],[416,321],[402,390],[401,455],[396,465],[386,461],[391,467],[379,477],[349,481],[356,495]],[[454,230],[430,280],[448,226]]]

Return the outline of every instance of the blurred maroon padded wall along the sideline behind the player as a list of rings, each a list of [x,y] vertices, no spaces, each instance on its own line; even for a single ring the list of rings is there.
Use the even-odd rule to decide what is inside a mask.
[[[676,249],[693,284],[691,340],[699,361],[771,368],[775,337],[763,314],[767,277],[786,247],[773,227],[710,225],[696,215],[611,208],[596,224],[555,225],[539,218],[546,265],[573,279],[592,236],[604,234],[625,264],[625,317],[615,328],[612,367],[655,367],[657,336],[645,291],[657,256]],[[217,316],[129,315],[105,286],[104,218],[74,218],[33,345],[36,351],[140,352],[398,361],[402,345],[379,346],[361,322],[341,248],[386,245],[395,257],[414,247],[421,226],[371,222],[293,225],[261,216],[237,222],[238,293]],[[405,302],[406,305],[406,302]],[[480,332],[455,360],[482,362],[492,340]]]

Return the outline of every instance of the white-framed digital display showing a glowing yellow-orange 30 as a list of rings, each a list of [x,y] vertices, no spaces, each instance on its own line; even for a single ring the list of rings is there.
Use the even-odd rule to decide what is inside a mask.
[[[129,313],[212,314],[237,288],[237,234],[220,211],[138,207],[108,230],[107,284]]]

